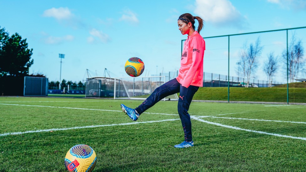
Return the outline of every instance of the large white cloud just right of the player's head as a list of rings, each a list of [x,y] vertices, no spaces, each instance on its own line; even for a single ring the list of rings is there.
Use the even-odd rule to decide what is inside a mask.
[[[196,0],[194,13],[215,26],[242,28],[245,18],[229,0]]]

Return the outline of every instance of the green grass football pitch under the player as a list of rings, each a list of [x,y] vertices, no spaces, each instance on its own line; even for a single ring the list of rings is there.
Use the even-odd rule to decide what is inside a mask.
[[[133,123],[120,112],[120,104],[136,107],[141,102],[0,97],[0,134]],[[94,171],[306,171],[305,140],[235,130],[192,119],[195,146],[176,149],[173,145],[183,141],[179,117],[154,113],[177,114],[177,102],[161,101],[146,112],[153,114],[144,113],[137,122],[178,120],[0,136],[0,171],[66,171],[66,152],[76,144],[87,144],[95,150],[98,159]],[[306,122],[306,106],[303,105],[192,102],[189,113]],[[306,138],[305,123],[201,119]]]

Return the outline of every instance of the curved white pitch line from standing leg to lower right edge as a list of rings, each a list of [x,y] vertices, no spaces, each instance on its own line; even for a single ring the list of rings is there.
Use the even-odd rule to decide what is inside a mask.
[[[209,122],[209,121],[205,121],[205,120],[200,119],[200,118],[195,117],[195,116],[190,116],[190,118],[198,120],[198,121],[201,121],[201,122],[205,122],[205,123],[208,123],[208,124],[213,124],[213,125],[217,125],[217,126],[220,126],[220,127],[231,128],[231,129],[235,129],[235,130],[242,130],[242,131],[248,131],[248,132],[253,132],[253,133],[260,133],[260,134],[267,134],[267,135],[273,135],[273,136],[284,137],[284,138],[293,138],[293,139],[299,139],[299,140],[306,140],[306,138],[304,138],[304,137],[295,137],[295,136],[287,136],[287,135],[281,135],[281,134],[275,134],[275,133],[267,133],[267,132],[263,132],[263,131],[249,130],[249,129],[233,127],[233,126],[229,126],[229,125],[223,125],[223,124],[216,123],[216,122]]]

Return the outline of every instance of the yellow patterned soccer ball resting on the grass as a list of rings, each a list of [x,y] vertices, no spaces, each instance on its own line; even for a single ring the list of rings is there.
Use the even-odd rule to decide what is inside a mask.
[[[86,144],[73,146],[66,154],[65,166],[68,171],[90,172],[96,166],[97,155]]]

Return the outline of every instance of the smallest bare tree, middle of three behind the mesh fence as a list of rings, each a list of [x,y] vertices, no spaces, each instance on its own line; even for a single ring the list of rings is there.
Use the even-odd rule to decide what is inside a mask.
[[[274,54],[271,52],[268,55],[268,60],[266,61],[263,67],[263,70],[268,77],[269,87],[272,87],[273,76],[275,75],[277,68],[277,57],[275,57]]]

